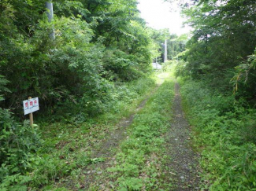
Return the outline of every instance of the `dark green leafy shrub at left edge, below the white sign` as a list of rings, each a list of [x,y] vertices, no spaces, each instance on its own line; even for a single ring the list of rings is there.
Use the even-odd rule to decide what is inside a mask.
[[[30,160],[35,157],[40,139],[28,121],[17,123],[12,115],[0,108],[0,188],[26,190],[24,183],[31,180],[27,175],[31,171]]]

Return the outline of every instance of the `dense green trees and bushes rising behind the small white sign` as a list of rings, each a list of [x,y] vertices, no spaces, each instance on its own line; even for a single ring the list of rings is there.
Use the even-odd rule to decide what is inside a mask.
[[[53,23],[41,1],[3,1],[0,11],[0,70],[11,92],[1,106],[20,116],[28,96],[39,97],[46,113],[84,102],[84,113],[101,113],[112,82],[150,71],[154,42],[136,1],[54,1]]]

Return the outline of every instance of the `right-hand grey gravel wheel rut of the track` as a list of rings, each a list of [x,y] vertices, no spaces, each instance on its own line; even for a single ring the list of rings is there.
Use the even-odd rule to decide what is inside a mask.
[[[173,123],[166,137],[167,154],[171,157],[168,165],[173,171],[173,190],[199,190],[198,155],[191,148],[190,126],[182,110],[178,83],[175,84]]]

